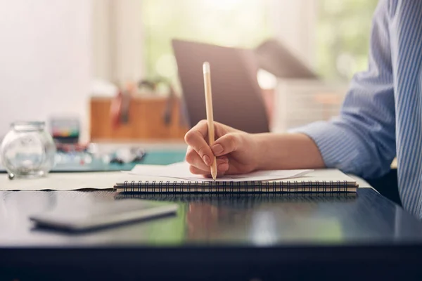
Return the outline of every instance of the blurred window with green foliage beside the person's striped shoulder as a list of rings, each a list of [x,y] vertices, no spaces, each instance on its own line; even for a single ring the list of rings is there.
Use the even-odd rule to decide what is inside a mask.
[[[316,67],[321,77],[348,81],[366,70],[377,4],[378,0],[319,0]]]

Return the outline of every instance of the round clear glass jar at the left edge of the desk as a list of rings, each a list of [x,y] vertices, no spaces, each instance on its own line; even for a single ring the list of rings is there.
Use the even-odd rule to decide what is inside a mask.
[[[46,176],[54,166],[56,145],[44,122],[15,122],[1,143],[1,161],[9,176]]]

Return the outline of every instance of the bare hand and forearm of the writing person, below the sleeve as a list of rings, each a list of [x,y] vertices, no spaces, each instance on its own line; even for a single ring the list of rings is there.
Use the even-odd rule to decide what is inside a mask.
[[[207,143],[207,122],[203,120],[186,133],[189,145],[186,161],[193,174],[210,175],[212,158],[217,171],[245,174],[255,170],[323,168],[321,154],[314,141],[302,133],[245,133],[214,122],[217,140]]]

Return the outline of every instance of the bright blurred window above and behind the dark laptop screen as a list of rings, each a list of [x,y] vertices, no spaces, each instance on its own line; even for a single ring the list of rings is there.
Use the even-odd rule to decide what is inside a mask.
[[[253,48],[271,37],[270,0],[144,0],[148,77],[177,79],[171,39]]]

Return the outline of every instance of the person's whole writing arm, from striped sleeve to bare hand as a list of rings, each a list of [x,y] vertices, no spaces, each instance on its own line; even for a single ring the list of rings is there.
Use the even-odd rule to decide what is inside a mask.
[[[373,18],[369,70],[354,76],[338,118],[283,134],[249,134],[216,123],[212,148],[205,141],[206,123],[200,122],[185,137],[191,172],[210,174],[210,159],[215,155],[222,174],[323,167],[364,178],[385,174],[395,157],[389,42],[388,1],[380,1]]]

